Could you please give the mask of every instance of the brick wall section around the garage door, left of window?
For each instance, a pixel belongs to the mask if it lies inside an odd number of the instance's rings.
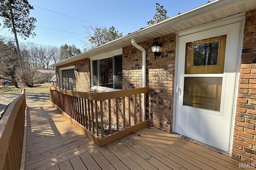
[[[73,66],[78,69],[76,74],[76,91],[90,92],[90,59],[82,59],[72,63],[57,66],[57,86],[60,87],[59,69],[63,67]]]

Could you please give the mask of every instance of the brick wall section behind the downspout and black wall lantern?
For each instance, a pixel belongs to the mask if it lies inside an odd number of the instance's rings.
[[[150,45],[162,43],[161,56],[154,57]],[[138,43],[146,49],[147,118],[156,128],[172,131],[176,35]],[[142,87],[142,52],[133,46],[123,49],[123,89]]]

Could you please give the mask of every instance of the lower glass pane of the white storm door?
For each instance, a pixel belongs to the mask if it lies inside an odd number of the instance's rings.
[[[220,111],[222,77],[185,77],[184,106]]]

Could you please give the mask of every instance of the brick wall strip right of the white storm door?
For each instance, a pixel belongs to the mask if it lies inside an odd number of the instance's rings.
[[[232,156],[256,164],[256,10],[246,12]]]

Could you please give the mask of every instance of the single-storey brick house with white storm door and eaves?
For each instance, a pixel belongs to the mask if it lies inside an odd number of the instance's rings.
[[[255,0],[214,0],[53,66],[64,89],[149,87],[154,127],[256,163]]]

